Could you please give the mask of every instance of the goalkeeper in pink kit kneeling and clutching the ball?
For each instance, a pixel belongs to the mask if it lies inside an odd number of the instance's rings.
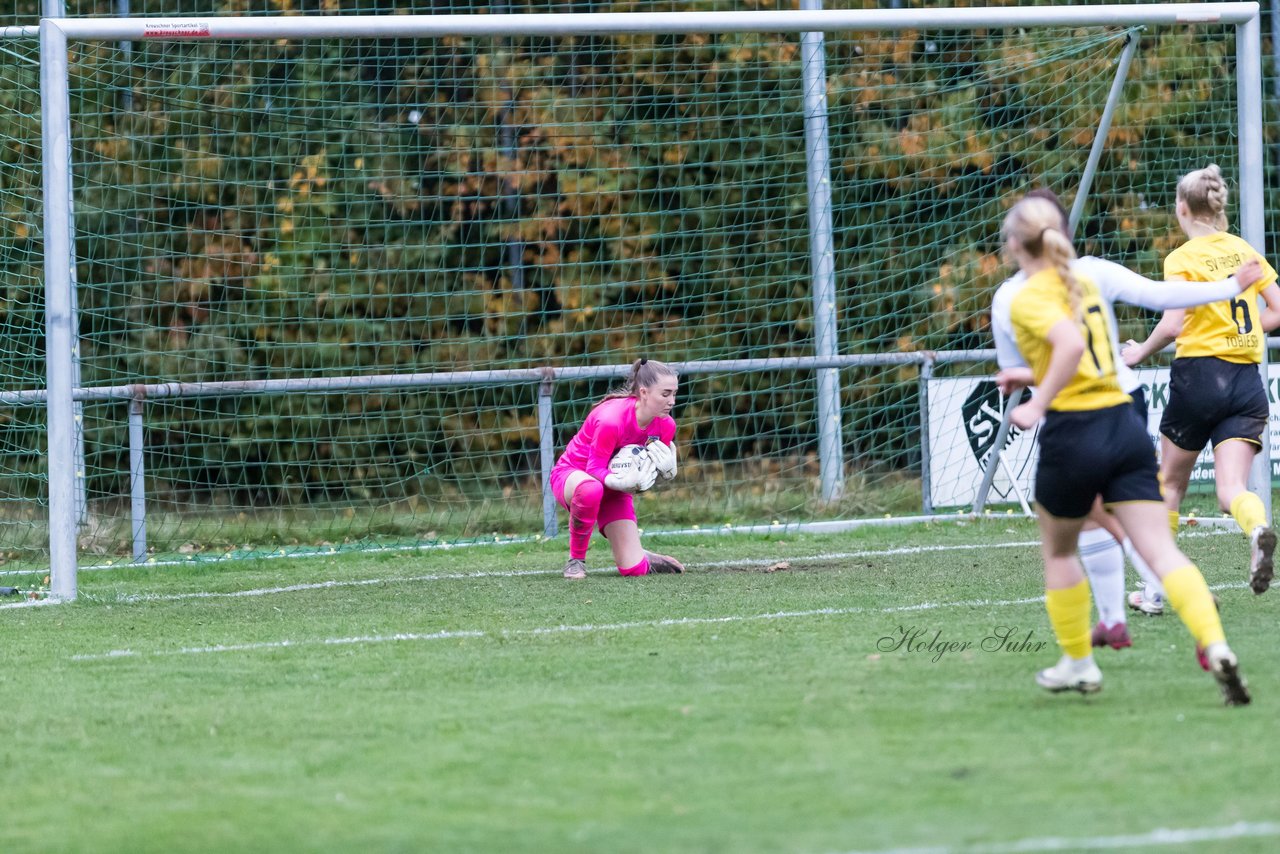
[[[673,557],[646,552],[640,545],[631,494],[652,487],[658,478],[676,476],[676,406],[678,376],[673,369],[640,359],[622,388],[611,392],[586,416],[552,469],[556,501],[568,511],[568,562],[566,579],[586,577],[586,549],[595,528],[609,540],[622,575],[684,572]],[[639,476],[612,474],[609,460],[628,444],[645,446]]]

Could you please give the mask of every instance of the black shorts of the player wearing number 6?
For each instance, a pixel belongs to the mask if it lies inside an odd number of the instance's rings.
[[[1169,371],[1169,406],[1160,433],[1184,451],[1201,451],[1228,439],[1261,447],[1271,417],[1262,374],[1254,364],[1240,365],[1213,356],[1175,359]]]

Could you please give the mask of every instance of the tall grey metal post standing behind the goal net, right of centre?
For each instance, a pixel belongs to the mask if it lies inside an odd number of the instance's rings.
[[[800,9],[819,10],[822,0],[800,0]],[[814,355],[835,356],[836,256],[831,224],[831,147],[827,123],[826,37],[800,33],[800,65],[804,85],[804,141],[809,188],[809,264],[813,278]],[[845,447],[841,437],[840,370],[819,367],[818,460],[822,498],[835,502],[845,494]]]

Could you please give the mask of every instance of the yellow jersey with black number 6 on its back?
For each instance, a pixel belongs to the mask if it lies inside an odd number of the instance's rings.
[[[1175,356],[1217,356],[1240,365],[1262,361],[1266,333],[1258,319],[1258,293],[1276,271],[1243,238],[1226,232],[1193,237],[1165,259],[1166,279],[1216,282],[1249,259],[1262,261],[1262,279],[1233,300],[1188,309]]]

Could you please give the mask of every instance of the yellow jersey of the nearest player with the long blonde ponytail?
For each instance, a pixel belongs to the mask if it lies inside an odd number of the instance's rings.
[[[1084,355],[1075,376],[1066,384],[1048,408],[1059,412],[1103,410],[1130,402],[1116,379],[1119,355],[1111,346],[1111,323],[1102,305],[1097,284],[1088,277],[1075,274],[1080,283],[1080,320],[1076,325],[1084,335]],[[1057,270],[1041,270],[1021,284],[1009,303],[1009,319],[1014,328],[1018,350],[1032,369],[1039,385],[1048,371],[1053,348],[1048,332],[1062,320],[1071,320],[1071,307],[1066,301],[1066,284]]]

